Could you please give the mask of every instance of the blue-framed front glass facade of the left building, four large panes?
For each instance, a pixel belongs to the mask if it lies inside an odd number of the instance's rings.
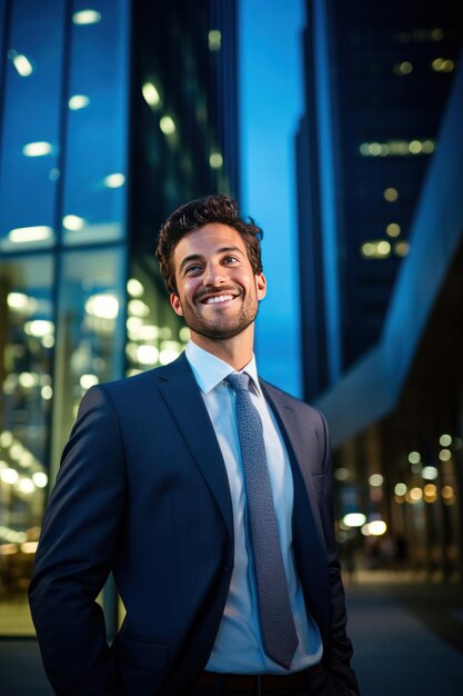
[[[3,2],[0,120],[0,633],[27,604],[78,404],[123,375],[127,0]]]

